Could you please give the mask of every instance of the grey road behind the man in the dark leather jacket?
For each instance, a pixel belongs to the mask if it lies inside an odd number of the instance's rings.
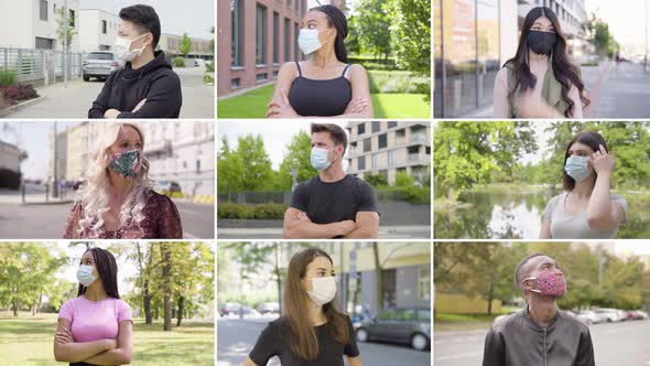
[[[650,321],[597,324],[589,327],[596,365],[650,365]],[[476,366],[483,359],[487,330],[434,333],[436,366]],[[522,352],[527,352],[522,349]]]

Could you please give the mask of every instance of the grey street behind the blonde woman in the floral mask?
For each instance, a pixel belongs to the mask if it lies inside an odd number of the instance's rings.
[[[58,239],[62,237],[65,218],[72,201],[57,203],[51,198],[45,203],[45,191],[41,187],[29,186],[25,201],[20,204],[19,192],[0,191],[0,237],[11,239]],[[174,201],[181,220],[183,235],[186,239],[213,239],[214,205],[195,204],[189,201]]]

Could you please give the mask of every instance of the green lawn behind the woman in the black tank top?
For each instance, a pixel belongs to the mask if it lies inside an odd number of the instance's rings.
[[[273,85],[217,101],[218,118],[264,118]],[[430,118],[422,94],[372,94],[375,118]]]

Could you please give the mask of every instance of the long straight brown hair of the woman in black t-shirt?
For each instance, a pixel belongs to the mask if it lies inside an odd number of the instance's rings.
[[[307,266],[317,257],[332,258],[324,250],[308,248],[296,252],[291,257],[286,268],[284,281],[284,301],[282,302],[282,325],[289,330],[289,344],[291,351],[301,358],[314,360],[318,356],[318,338],[314,326],[310,323],[310,314],[305,303],[310,301],[302,287],[301,280],[305,278]],[[340,344],[347,344],[349,330],[345,315],[336,308],[337,301],[323,305],[323,312],[327,317],[326,330],[332,337]]]

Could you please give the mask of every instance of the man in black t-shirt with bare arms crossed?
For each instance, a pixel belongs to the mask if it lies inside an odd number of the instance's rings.
[[[312,123],[311,162],[319,173],[293,191],[291,207],[284,213],[284,238],[377,237],[375,191],[343,170],[346,147],[347,137],[338,125]]]

